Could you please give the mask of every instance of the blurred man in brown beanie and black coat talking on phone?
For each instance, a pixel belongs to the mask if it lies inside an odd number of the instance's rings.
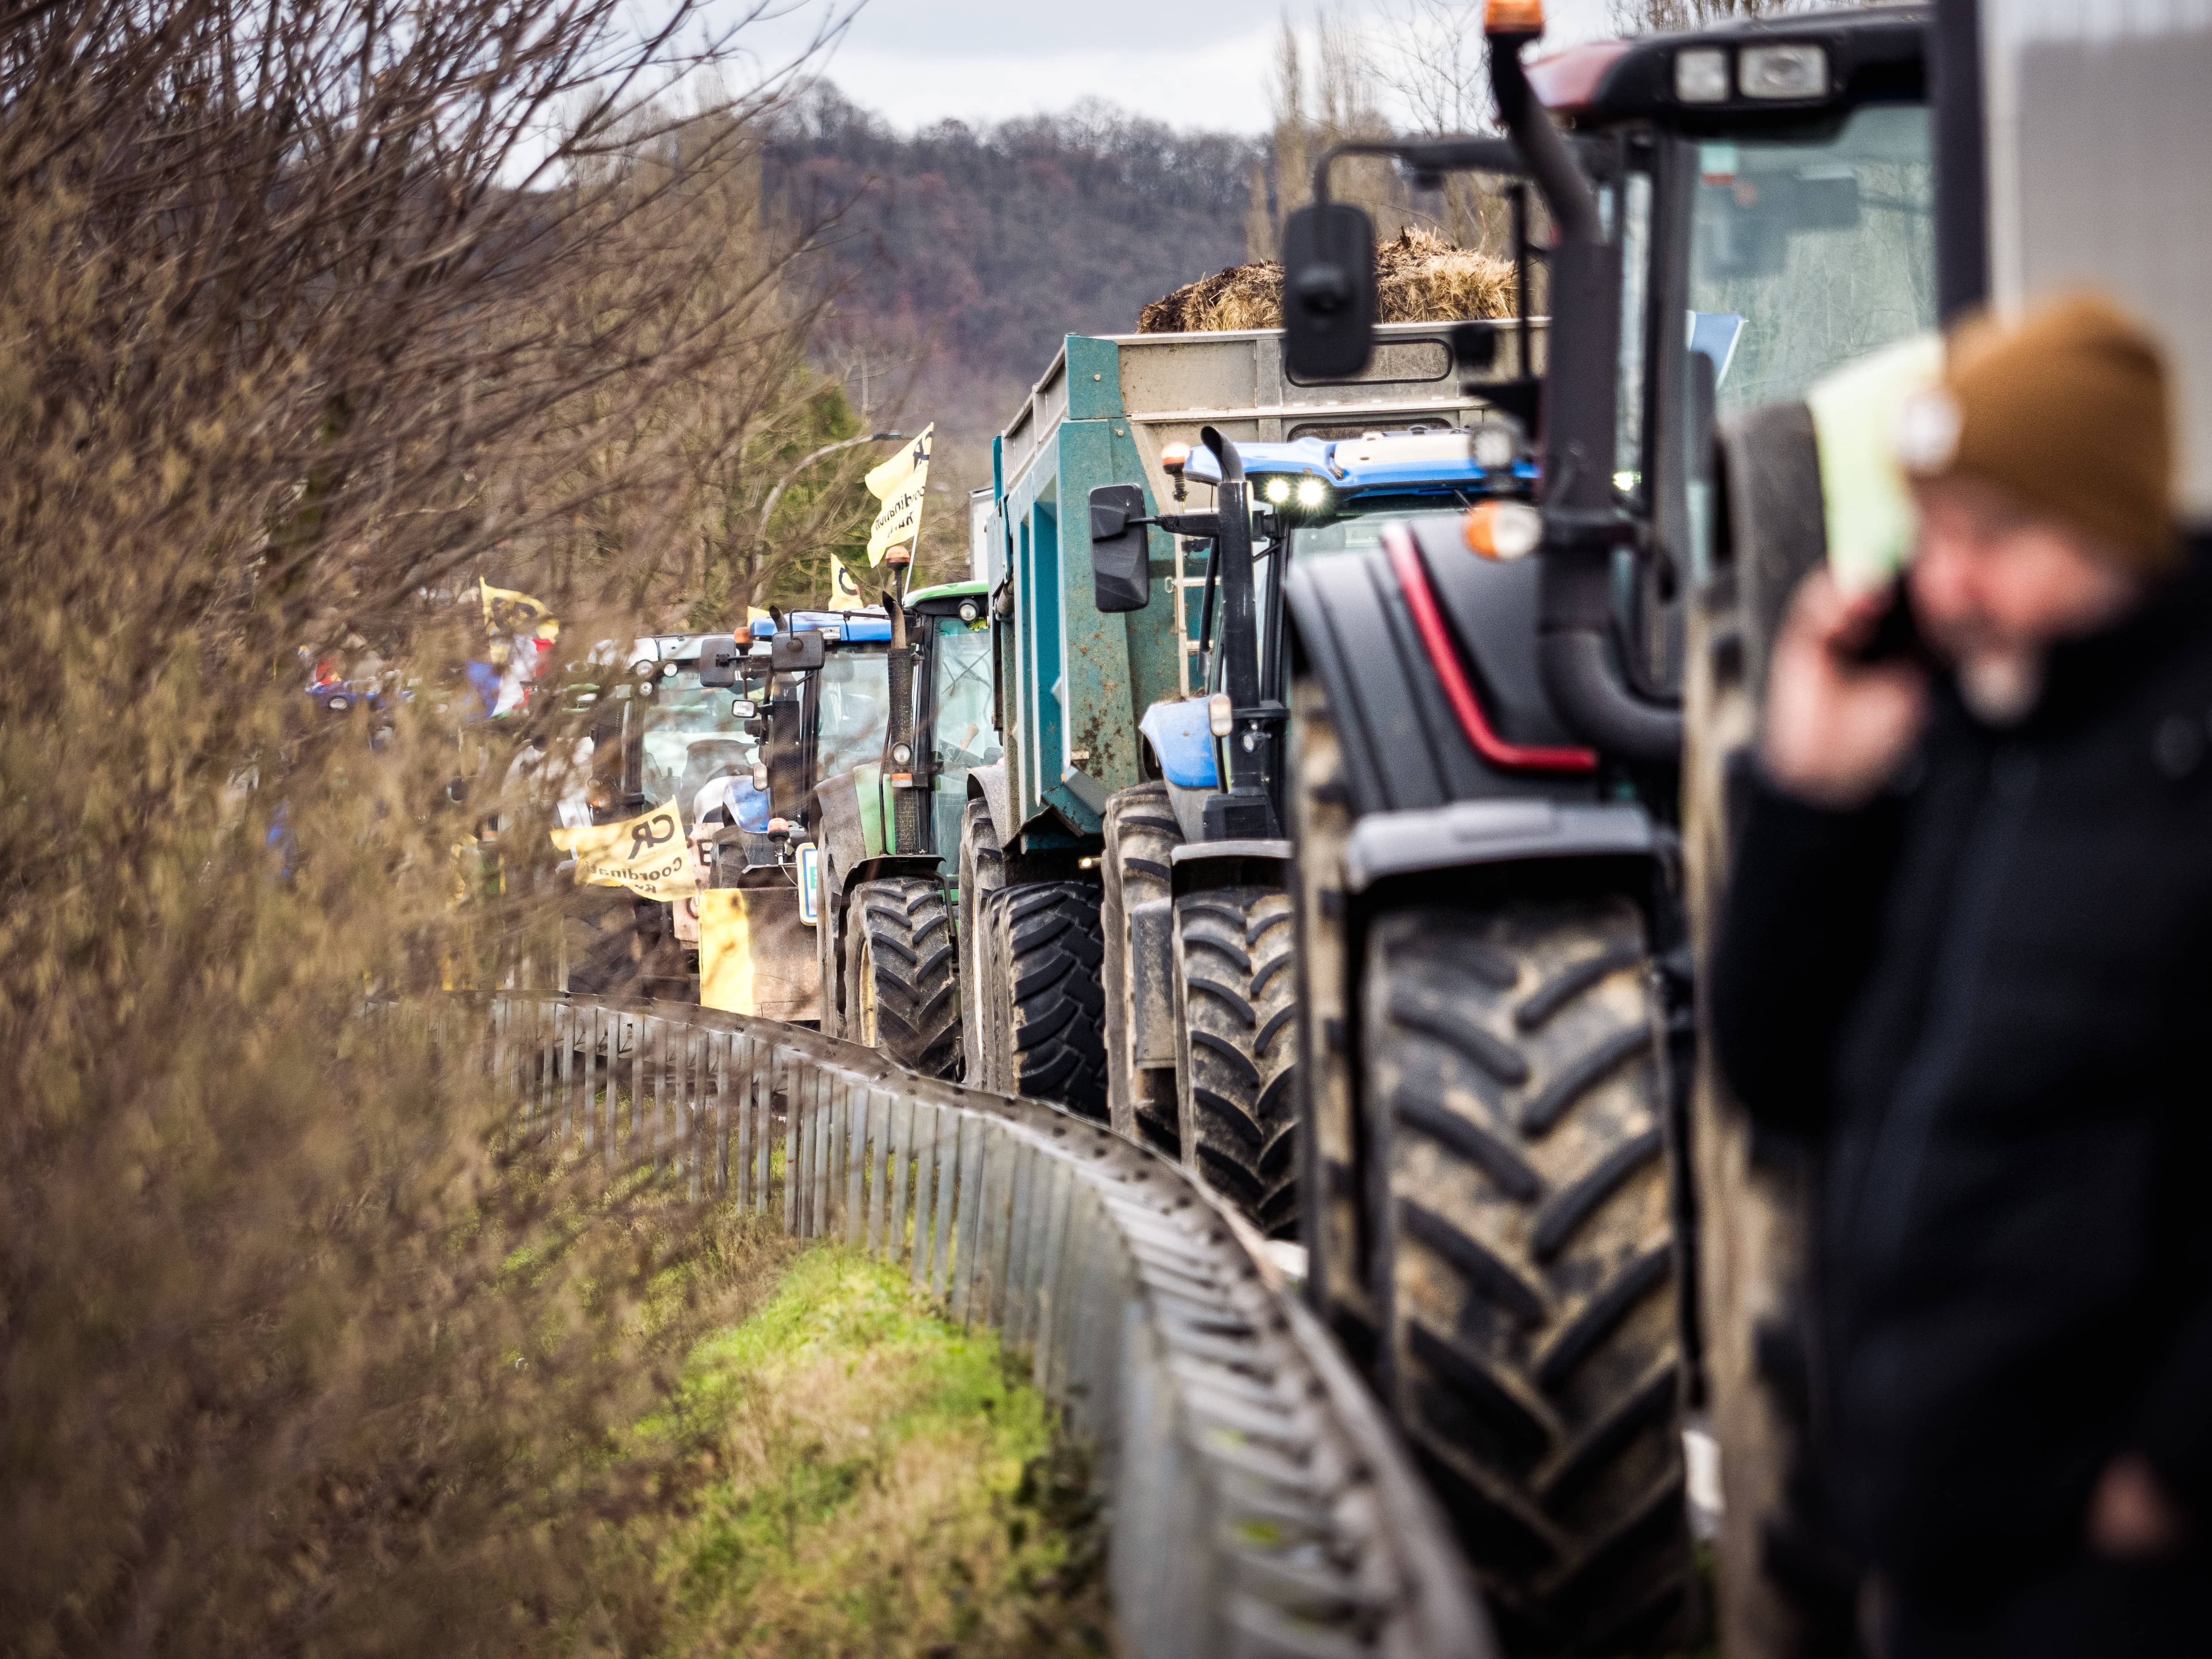
[[[1776,644],[1719,1060],[1820,1155],[1818,1436],[1891,1659],[2205,1655],[2212,571],[2157,345],[1953,338],[1900,431],[1918,644]]]

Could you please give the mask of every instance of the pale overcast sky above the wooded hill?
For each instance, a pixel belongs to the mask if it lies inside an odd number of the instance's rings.
[[[741,0],[719,0],[721,7]],[[827,0],[745,33],[768,58],[787,55],[823,20]],[[1340,13],[1387,27],[1407,0],[1345,0]],[[1608,29],[1608,0],[1551,0],[1546,40]],[[998,122],[1104,97],[1181,128],[1259,133],[1283,18],[1310,27],[1314,7],[1281,0],[867,0],[823,73],[900,131],[947,117]]]

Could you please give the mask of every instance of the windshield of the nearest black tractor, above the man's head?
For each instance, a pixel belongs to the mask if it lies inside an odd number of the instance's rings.
[[[1922,104],[1820,137],[1697,146],[1690,349],[1719,407],[1801,398],[1829,369],[1936,327],[1936,166]]]

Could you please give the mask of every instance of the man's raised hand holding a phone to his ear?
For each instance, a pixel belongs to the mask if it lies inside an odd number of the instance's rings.
[[[1927,675],[1916,664],[1849,657],[1887,608],[1887,593],[1845,595],[1814,571],[1774,641],[1761,759],[1776,785],[1816,807],[1871,801],[1927,721]]]

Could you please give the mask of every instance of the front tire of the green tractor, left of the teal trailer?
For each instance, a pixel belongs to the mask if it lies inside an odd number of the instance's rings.
[[[845,898],[845,1031],[922,1077],[960,1066],[960,967],[945,889],[860,883]]]

